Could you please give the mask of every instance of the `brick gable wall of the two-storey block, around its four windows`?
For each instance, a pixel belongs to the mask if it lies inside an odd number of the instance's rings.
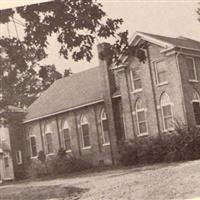
[[[135,139],[138,135],[135,106],[136,101],[142,99],[146,108],[148,136],[159,137],[163,132],[163,121],[160,108],[160,97],[166,92],[172,102],[173,117],[175,121],[185,122],[184,101],[182,98],[182,86],[179,68],[175,54],[166,56],[160,53],[161,47],[151,44],[149,46],[149,58],[145,63],[140,63],[136,58],[129,58],[128,67],[118,72],[120,78],[120,91],[122,95],[122,107],[125,115],[127,139]],[[148,60],[149,59],[149,60]],[[167,83],[158,85],[154,62],[164,60],[167,66]],[[137,70],[142,80],[142,91],[131,91],[130,70]],[[160,131],[159,131],[160,130]]]

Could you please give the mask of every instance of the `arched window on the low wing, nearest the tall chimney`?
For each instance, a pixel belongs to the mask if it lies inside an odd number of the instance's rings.
[[[108,119],[105,109],[101,111],[101,129],[102,129],[102,144],[110,144],[109,132],[108,132]]]

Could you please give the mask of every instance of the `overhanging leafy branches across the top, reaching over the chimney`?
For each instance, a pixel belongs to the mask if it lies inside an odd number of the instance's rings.
[[[129,46],[128,31],[118,31],[123,20],[107,17],[97,1],[54,0],[19,7],[17,13],[26,21],[25,43],[29,46],[45,49],[48,37],[57,34],[61,55],[66,59],[70,55],[75,61],[90,61],[95,39],[113,37],[115,42],[111,54],[115,62],[119,55],[129,53],[135,53],[140,60],[144,60],[143,51],[135,52],[138,48]],[[9,20],[10,17],[7,17]]]

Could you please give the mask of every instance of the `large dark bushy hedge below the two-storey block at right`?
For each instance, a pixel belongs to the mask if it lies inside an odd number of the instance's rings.
[[[157,162],[176,162],[200,158],[200,129],[176,127],[166,134],[162,141],[146,137],[137,143],[129,141],[120,148],[122,165]]]

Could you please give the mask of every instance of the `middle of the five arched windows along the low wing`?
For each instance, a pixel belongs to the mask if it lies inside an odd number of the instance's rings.
[[[62,124],[62,136],[65,150],[71,151],[71,136],[67,120],[64,120]]]

